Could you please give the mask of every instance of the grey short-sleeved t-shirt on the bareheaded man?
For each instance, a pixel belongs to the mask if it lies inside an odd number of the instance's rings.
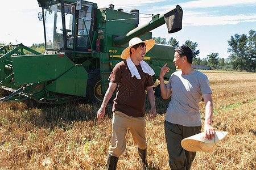
[[[201,126],[199,102],[203,94],[212,93],[207,75],[200,71],[182,75],[181,71],[176,71],[166,86],[172,91],[172,99],[165,120],[182,126]]]

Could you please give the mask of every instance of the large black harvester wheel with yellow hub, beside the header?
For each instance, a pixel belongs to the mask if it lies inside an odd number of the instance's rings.
[[[97,103],[98,101],[102,101],[103,98],[104,95],[101,93],[100,70],[95,69],[88,74],[86,101],[89,103]]]

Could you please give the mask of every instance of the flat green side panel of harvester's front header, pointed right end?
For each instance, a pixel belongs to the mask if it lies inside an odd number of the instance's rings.
[[[12,59],[16,85],[56,79],[75,66],[64,54],[14,56]]]

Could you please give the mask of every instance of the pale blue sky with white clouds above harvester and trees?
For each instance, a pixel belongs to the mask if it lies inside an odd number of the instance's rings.
[[[92,1],[98,7],[108,7],[112,3],[115,9],[130,11],[137,8],[141,13],[162,14],[176,5],[183,8],[183,28],[169,34],[166,25],[152,31],[152,36],[165,37],[167,41],[174,37],[182,45],[185,40],[197,42],[199,57],[205,58],[210,53],[219,53],[220,58],[227,58],[228,40],[235,33],[248,35],[250,29],[256,30],[256,0],[112,0]],[[13,0],[1,2],[0,42],[33,43],[44,42],[43,22],[38,20],[41,8],[36,0]],[[140,15],[141,17],[145,15]],[[147,15],[146,15],[147,16]],[[141,19],[140,23],[150,20]]]

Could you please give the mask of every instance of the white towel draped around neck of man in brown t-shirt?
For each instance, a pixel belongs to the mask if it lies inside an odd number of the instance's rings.
[[[137,67],[134,65],[133,61],[131,61],[131,56],[127,57],[126,62],[131,72],[131,77],[135,75],[137,79],[141,79],[141,75],[139,75],[139,71],[137,70]],[[144,73],[147,73],[148,75],[151,75],[151,76],[155,74],[154,70],[151,69],[151,67],[147,64],[147,62],[140,61],[139,63],[141,64],[141,68]]]

